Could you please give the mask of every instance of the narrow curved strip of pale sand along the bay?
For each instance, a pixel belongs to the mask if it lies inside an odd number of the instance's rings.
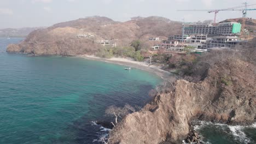
[[[90,60],[94,60],[94,61],[126,65],[127,67],[132,67],[132,68],[148,71],[149,73],[158,75],[162,79],[167,79],[168,77],[170,77],[172,75],[170,72],[162,70],[155,65],[149,65],[148,63],[145,63],[145,62],[136,62],[136,61],[132,61],[132,60],[126,59],[126,58],[117,58],[117,57],[101,58],[101,57],[96,57],[93,55],[81,55],[78,57],[82,57],[82,58],[86,58],[86,59],[90,59]]]

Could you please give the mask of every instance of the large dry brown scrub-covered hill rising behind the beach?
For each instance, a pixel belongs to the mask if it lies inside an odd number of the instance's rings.
[[[38,55],[74,56],[94,53],[101,49],[97,41],[112,39],[117,46],[127,46],[132,40],[148,43],[148,38],[167,38],[181,33],[179,22],[164,17],[141,17],[126,22],[113,21],[107,17],[86,17],[74,21],[57,23],[45,29],[31,32],[18,45],[8,46],[8,52],[26,52]],[[78,34],[93,35],[76,38]]]

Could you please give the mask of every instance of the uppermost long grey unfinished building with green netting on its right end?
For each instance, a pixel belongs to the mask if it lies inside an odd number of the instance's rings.
[[[217,26],[210,24],[189,25],[184,27],[184,34],[216,34],[216,35],[235,35],[241,32],[241,23],[225,22]]]

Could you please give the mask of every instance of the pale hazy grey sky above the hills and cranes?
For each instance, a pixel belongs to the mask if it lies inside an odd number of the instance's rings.
[[[207,11],[182,9],[224,9],[242,6],[256,0],[0,0],[0,28],[51,26],[87,16],[106,16],[128,21],[135,16],[163,16],[173,21],[213,20]],[[256,8],[256,5],[250,8]],[[242,17],[241,11],[220,11],[217,21]],[[256,19],[256,10],[247,17]]]

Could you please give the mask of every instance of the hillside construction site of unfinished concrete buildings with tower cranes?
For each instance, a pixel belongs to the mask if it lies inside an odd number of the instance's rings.
[[[193,51],[207,50],[226,50],[233,49],[237,46],[244,45],[248,40],[255,37],[255,31],[246,29],[246,23],[254,23],[253,19],[247,17],[247,12],[256,12],[256,9],[249,8],[256,4],[227,9],[210,9],[210,10],[178,10],[178,11],[201,11],[214,13],[213,23],[182,23],[182,33],[178,35],[170,35],[167,40],[163,40],[159,44],[153,46],[153,50],[164,49],[167,51],[181,52],[185,48],[193,48]],[[241,11],[241,22],[216,22],[217,14],[220,11]]]

